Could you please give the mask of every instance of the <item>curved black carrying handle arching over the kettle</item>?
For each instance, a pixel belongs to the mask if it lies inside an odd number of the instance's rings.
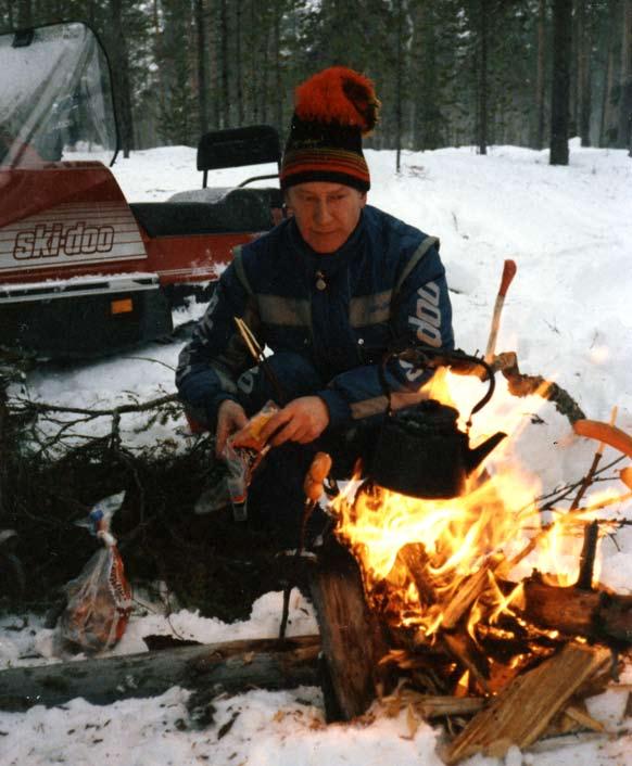
[[[467,375],[477,374],[475,372],[475,368],[482,367],[486,373],[489,387],[484,396],[477,401],[469,413],[469,418],[467,420],[467,425],[469,426],[471,424],[472,416],[481,410],[494,395],[496,381],[494,378],[494,371],[490,365],[482,357],[471,356],[460,349],[443,350],[441,348],[430,348],[429,346],[410,344],[408,339],[406,339],[406,343],[408,345],[403,348],[400,345],[391,350],[388,350],[382,357],[381,363],[378,368],[380,385],[384,396],[388,399],[387,416],[390,417],[393,414],[391,400],[392,391],[387,381],[387,365],[391,361],[391,359],[407,361],[417,368],[425,367],[428,370],[437,370],[440,367],[454,368],[456,371],[460,372],[460,374]],[[480,375],[477,376],[480,378]]]

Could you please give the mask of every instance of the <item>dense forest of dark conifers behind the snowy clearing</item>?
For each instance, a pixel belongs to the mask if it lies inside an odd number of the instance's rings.
[[[295,85],[333,64],[375,80],[372,149],[632,152],[632,0],[0,0],[0,28],[59,21],[100,35],[126,154],[257,123],[283,138]]]

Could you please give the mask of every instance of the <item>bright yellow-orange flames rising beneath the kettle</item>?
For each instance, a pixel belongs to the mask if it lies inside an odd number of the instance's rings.
[[[455,406],[463,430],[463,420],[480,398],[480,385],[476,379],[440,371],[424,393]],[[470,476],[463,496],[416,499],[356,477],[334,501],[336,534],[361,564],[369,604],[388,615],[391,625],[412,630],[417,642],[432,642],[442,627],[451,629],[462,617],[476,641],[481,624],[492,629],[501,615],[516,614],[522,588],[507,592],[506,583],[534,567],[554,573],[549,577],[557,585],[577,578],[582,546],[577,522],[585,522],[585,513],[571,518],[554,512],[553,523],[545,518],[544,526],[536,505],[540,482],[513,455],[515,438],[530,420],[526,410],[542,401],[516,399],[500,382],[492,403],[475,416],[470,438],[478,442],[498,430],[509,438]],[[530,546],[533,537],[538,545]],[[533,550],[524,556],[529,546]],[[520,655],[513,664],[522,662]]]

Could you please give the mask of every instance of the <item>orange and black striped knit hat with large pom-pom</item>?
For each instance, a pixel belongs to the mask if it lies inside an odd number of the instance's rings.
[[[309,181],[370,188],[362,137],[378,122],[374,84],[344,66],[331,66],[300,85],[281,164],[281,189]]]

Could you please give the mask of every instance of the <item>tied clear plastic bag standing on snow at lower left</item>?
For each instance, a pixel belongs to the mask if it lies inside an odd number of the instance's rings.
[[[102,548],[84,566],[78,577],[67,583],[67,604],[58,624],[61,642],[86,652],[111,649],[121,640],[131,612],[131,588],[125,577],[123,559],[110,522],[121,508],[125,493],[112,495],[90,511],[87,526]]]

